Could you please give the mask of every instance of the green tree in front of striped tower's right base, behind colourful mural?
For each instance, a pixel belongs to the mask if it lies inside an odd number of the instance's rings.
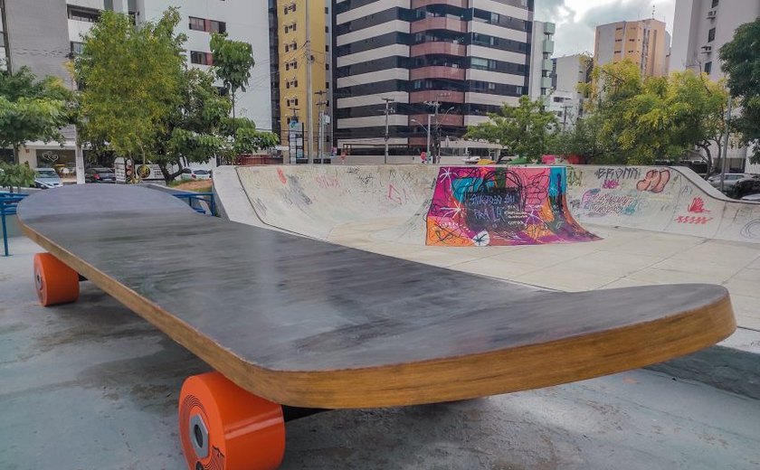
[[[506,155],[520,155],[538,160],[549,144],[552,128],[557,125],[556,115],[544,108],[541,99],[520,97],[517,107],[502,105],[499,113],[489,113],[489,122],[467,129],[465,138],[485,140],[499,144],[502,151],[499,162]]]

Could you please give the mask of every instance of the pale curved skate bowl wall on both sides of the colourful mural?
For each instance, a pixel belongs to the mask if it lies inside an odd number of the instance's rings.
[[[356,227],[371,232],[372,240],[435,245],[428,240],[430,211],[442,168],[446,167],[220,167],[214,171],[214,191],[231,220],[320,240],[328,240],[338,227]],[[688,168],[576,165],[566,167],[566,172],[567,221],[579,227],[626,227],[760,243],[760,203],[729,199]]]

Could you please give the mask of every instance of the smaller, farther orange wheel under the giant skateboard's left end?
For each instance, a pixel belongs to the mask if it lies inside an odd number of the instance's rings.
[[[79,274],[50,253],[37,253],[34,287],[43,306],[73,302],[79,297]]]

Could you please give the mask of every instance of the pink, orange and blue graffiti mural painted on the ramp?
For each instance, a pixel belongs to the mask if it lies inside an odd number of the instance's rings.
[[[442,166],[427,245],[497,246],[600,240],[572,217],[565,167]]]

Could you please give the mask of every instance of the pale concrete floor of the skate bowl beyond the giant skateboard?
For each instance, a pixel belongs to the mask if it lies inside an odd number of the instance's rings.
[[[743,328],[760,331],[760,244],[587,225],[603,240],[518,247],[428,247],[394,240],[401,219],[340,225],[328,240],[397,258],[565,291],[705,282],[727,287]]]

